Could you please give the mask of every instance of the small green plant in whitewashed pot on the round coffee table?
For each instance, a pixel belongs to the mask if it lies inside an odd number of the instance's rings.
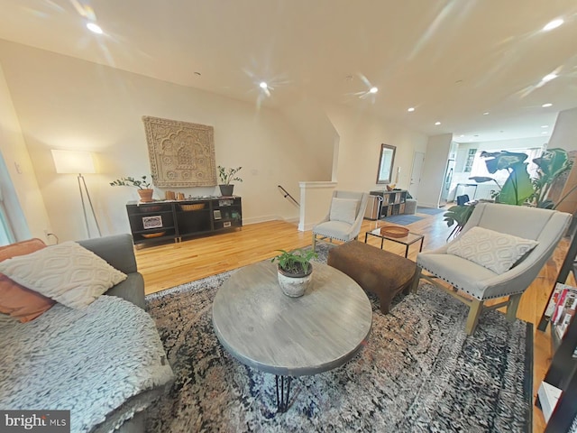
[[[291,297],[302,296],[312,281],[313,264],[318,254],[313,250],[298,249],[292,252],[277,250],[279,255],[273,257],[271,262],[278,262],[279,285],[282,292]]]

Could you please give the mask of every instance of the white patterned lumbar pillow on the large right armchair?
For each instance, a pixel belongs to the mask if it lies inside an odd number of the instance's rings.
[[[504,273],[529,253],[537,241],[523,239],[483,227],[472,227],[447,248],[447,253],[481,264],[495,273]]]

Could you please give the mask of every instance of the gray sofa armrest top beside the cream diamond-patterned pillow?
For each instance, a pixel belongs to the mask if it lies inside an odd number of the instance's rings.
[[[108,264],[126,274],[136,272],[136,257],[132,235],[111,235],[78,241],[78,244],[103,258]]]

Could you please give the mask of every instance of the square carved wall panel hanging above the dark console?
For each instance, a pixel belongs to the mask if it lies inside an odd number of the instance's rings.
[[[154,185],[214,187],[214,128],[159,117],[142,116]]]

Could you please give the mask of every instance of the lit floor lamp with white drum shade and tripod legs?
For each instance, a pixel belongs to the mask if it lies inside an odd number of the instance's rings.
[[[92,200],[90,199],[90,194],[88,194],[87,182],[84,180],[84,176],[82,176],[82,173],[85,174],[96,173],[92,153],[82,151],[57,151],[57,150],[52,150],[51,152],[57,173],[78,174],[78,190],[80,191],[80,200],[82,201],[82,211],[84,212],[84,222],[87,225],[88,237],[91,236],[90,236],[90,226],[88,225],[87,204],[84,198],[85,194],[88,200],[88,205],[90,205],[90,211],[92,212],[92,217],[94,218],[94,222],[96,224],[96,229],[98,230],[98,235],[102,236],[102,234],[100,233],[100,226],[98,226],[98,220],[96,219],[96,214],[94,212],[94,207],[92,206]]]

